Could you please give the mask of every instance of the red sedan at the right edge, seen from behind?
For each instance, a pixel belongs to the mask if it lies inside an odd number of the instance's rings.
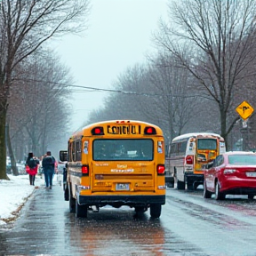
[[[217,156],[204,170],[204,198],[225,199],[226,195],[256,196],[256,154],[233,151]]]

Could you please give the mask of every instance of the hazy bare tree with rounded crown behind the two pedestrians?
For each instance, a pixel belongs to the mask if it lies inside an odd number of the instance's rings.
[[[10,132],[15,144],[20,139],[20,130],[26,136],[23,156],[28,150],[36,156],[43,155],[47,145],[58,144],[68,129],[69,109],[65,102],[71,92],[68,85],[62,84],[72,84],[72,77],[54,52],[42,53],[34,52],[23,61],[21,74],[16,74],[12,84],[8,119],[12,122]]]

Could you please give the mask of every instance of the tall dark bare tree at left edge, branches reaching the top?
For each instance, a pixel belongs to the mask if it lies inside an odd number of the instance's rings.
[[[12,72],[52,36],[85,28],[88,0],[2,0],[0,15],[0,179],[5,173],[5,124]]]

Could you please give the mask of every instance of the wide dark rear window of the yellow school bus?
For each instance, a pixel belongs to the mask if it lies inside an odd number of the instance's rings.
[[[153,140],[93,140],[92,157],[94,161],[152,161]]]

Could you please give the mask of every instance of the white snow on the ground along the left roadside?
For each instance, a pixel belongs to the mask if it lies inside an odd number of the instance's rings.
[[[57,182],[59,175],[54,175],[53,184]],[[8,177],[10,180],[0,180],[0,226],[15,220],[34,189],[44,187],[44,179],[37,175],[35,186],[29,184],[28,174],[8,174]]]

